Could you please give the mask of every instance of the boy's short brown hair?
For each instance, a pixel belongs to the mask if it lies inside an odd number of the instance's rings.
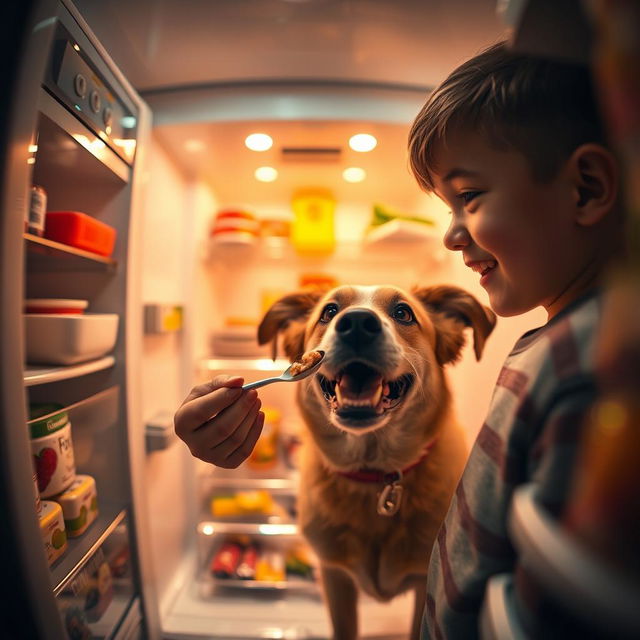
[[[591,74],[581,65],[510,51],[500,42],[460,65],[429,96],[409,133],[409,163],[425,191],[454,130],[515,150],[544,182],[586,142],[606,145]]]

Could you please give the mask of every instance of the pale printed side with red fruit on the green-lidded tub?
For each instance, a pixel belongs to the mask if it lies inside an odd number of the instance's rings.
[[[76,474],[71,423],[54,433],[31,440],[31,453],[42,498],[64,491]]]

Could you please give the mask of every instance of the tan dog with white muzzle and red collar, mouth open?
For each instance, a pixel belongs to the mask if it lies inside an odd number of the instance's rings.
[[[415,590],[419,637],[431,547],[467,458],[445,366],[471,327],[480,359],[495,314],[455,286],[340,286],[284,296],[260,344],[293,362],[325,352],[297,385],[307,433],[298,520],[319,559],[335,639],[358,636],[358,592]]]

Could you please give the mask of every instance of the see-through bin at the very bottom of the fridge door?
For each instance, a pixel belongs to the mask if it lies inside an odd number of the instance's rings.
[[[112,638],[134,602],[126,511],[56,589],[69,640]]]

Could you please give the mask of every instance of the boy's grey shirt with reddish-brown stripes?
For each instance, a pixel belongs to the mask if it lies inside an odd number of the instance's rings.
[[[545,506],[562,511],[596,398],[600,310],[596,294],[585,296],[522,336],[507,356],[431,553],[423,640],[478,636],[488,578],[516,570],[507,515],[519,484],[537,483]]]

